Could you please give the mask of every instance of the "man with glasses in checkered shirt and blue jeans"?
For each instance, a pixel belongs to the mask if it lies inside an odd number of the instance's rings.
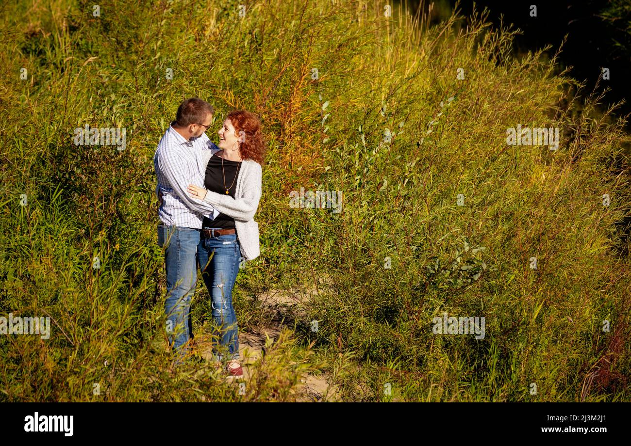
[[[215,219],[219,211],[187,193],[191,183],[204,187],[206,164],[212,149],[218,150],[204,132],[213,120],[213,107],[198,98],[183,101],[175,121],[162,136],[155,155],[158,185],[158,245],[165,248],[167,271],[167,333],[177,362],[189,350],[192,327],[191,298],[197,282],[196,253],[204,216]]]

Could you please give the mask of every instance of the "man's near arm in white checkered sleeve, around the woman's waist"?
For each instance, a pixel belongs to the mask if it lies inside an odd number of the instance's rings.
[[[213,205],[204,200],[192,198],[186,192],[190,183],[204,187],[204,181],[197,166],[191,166],[186,160],[177,157],[174,151],[162,151],[158,157],[158,168],[187,208],[213,220],[219,215],[220,212]]]

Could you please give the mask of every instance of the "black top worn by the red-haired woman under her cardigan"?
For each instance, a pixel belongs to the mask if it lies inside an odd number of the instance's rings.
[[[221,171],[221,162],[223,161],[223,172]],[[206,178],[204,178],[204,187],[212,192],[220,193],[221,195],[230,195],[235,197],[235,190],[237,189],[237,175],[241,168],[241,161],[230,161],[229,159],[223,159],[220,156],[213,154],[208,160],[206,165]],[[223,173],[225,172],[225,187]],[[232,187],[230,187],[232,185]],[[226,193],[228,188],[228,193]],[[202,222],[203,227],[220,227],[221,229],[235,229],[235,219],[228,217],[228,215],[220,213],[215,220],[211,220],[208,217],[204,217]]]

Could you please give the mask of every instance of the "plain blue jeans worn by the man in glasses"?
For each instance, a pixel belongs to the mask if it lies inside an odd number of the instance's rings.
[[[158,245],[165,248],[167,270],[167,316],[169,344],[181,359],[189,350],[191,338],[191,299],[197,283],[195,264],[200,231],[192,227],[158,224]]]

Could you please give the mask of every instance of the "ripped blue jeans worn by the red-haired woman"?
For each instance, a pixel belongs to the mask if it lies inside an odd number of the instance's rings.
[[[228,360],[239,359],[239,326],[232,307],[232,287],[242,260],[237,234],[202,237],[197,256],[199,270],[212,299],[213,338],[219,339],[219,345],[213,345],[213,355],[216,360],[222,360],[226,355]]]

